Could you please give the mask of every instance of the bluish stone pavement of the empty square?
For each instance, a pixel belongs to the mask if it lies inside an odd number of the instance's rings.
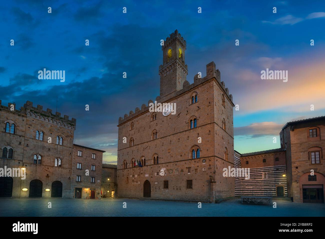
[[[52,208],[48,208],[48,202]],[[126,208],[123,208],[126,202]],[[1,217],[136,217],[136,216],[268,216],[268,217],[324,217],[325,204],[292,203],[278,200],[277,208],[268,205],[241,204],[233,199],[220,204],[135,200],[110,198],[102,200],[64,198],[0,198]]]

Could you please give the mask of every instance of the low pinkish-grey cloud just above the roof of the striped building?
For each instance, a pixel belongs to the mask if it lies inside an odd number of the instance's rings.
[[[247,135],[250,138],[279,135],[282,127],[283,124],[274,122],[253,123],[248,126],[234,127],[234,135]]]

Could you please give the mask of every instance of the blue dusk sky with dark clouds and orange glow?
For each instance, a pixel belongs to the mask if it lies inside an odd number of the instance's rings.
[[[13,0],[0,9],[0,100],[55,112],[58,97],[58,112],[77,119],[75,143],[116,164],[118,118],[159,95],[160,40],[177,29],[188,82],[214,61],[239,105],[234,149],[279,148],[286,122],[325,115],[324,25],[324,1]],[[38,79],[44,68],[65,81]],[[288,81],[261,79],[266,68]]]

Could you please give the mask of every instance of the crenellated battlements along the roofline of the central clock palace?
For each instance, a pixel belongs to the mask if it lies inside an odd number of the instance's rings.
[[[168,37],[167,37],[168,39]],[[165,97],[160,98],[160,96],[156,97],[156,101],[158,103],[163,103],[168,101],[169,99],[174,98],[175,96],[181,95],[186,91],[189,91],[191,89],[193,89],[194,87],[202,84],[205,81],[208,81],[212,78],[215,78],[216,81],[218,82],[218,84],[220,85],[220,87],[223,89],[225,96],[230,100],[230,102],[232,103],[232,95],[229,94],[229,90],[228,88],[225,87],[225,82],[221,81],[221,76],[220,76],[220,71],[218,69],[215,69],[215,63],[212,61],[209,64],[206,65],[206,76],[203,78],[199,78],[199,75],[196,74],[194,76],[194,83],[193,84],[189,84],[188,81],[185,81],[183,83],[183,89],[179,90],[179,91],[175,91]],[[129,114],[124,114],[124,118],[120,117],[119,118],[119,125],[148,111],[149,110],[149,103],[153,103],[152,100],[148,101],[148,105],[146,104],[142,104],[141,109],[139,109],[138,107],[136,107],[135,112],[130,111]],[[233,104],[233,103],[232,103]],[[234,106],[234,104],[233,104]]]

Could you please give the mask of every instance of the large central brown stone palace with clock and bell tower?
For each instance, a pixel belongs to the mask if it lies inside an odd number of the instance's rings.
[[[149,100],[119,118],[117,196],[206,202],[232,197],[234,178],[222,176],[223,168],[234,166],[232,96],[214,62],[205,77],[197,74],[188,83],[186,41],[177,30],[162,51],[156,101],[175,103],[176,112],[151,112]]]

